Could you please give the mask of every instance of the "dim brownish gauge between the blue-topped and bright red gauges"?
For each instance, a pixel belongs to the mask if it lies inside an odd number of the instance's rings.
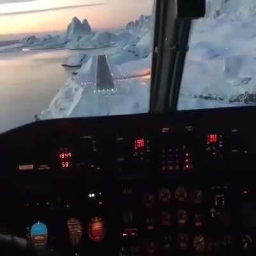
[[[67,222],[68,233],[70,238],[70,243],[72,246],[77,246],[83,236],[83,228],[79,220],[72,218]]]

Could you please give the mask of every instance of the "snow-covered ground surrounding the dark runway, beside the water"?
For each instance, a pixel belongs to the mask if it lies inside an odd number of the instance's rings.
[[[63,118],[68,116],[102,116],[145,113],[148,111],[150,94],[150,76],[136,77],[150,70],[151,59],[127,61],[116,65],[107,58],[109,70],[117,77],[115,88],[97,89],[97,56],[92,56],[77,70],[77,75],[68,79],[52,100],[49,108],[44,109],[41,119]],[[113,70],[118,70],[113,73]]]

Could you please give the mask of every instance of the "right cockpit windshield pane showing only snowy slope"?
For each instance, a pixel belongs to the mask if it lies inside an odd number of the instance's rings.
[[[179,110],[255,106],[256,1],[207,0],[193,21]]]

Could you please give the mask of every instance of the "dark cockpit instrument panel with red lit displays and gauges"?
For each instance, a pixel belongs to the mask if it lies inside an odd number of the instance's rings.
[[[254,255],[251,115],[56,120],[3,134],[0,233],[7,223],[31,250],[61,255]]]

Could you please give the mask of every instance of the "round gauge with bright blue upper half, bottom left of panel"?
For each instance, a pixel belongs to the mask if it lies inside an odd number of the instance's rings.
[[[47,226],[38,221],[30,230],[31,243],[35,246],[45,246],[48,241],[48,230]]]

